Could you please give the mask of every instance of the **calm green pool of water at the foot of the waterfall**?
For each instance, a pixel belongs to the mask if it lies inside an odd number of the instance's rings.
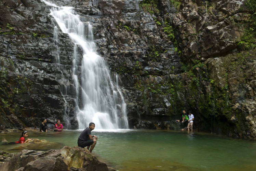
[[[80,131],[35,132],[28,138],[45,139],[55,145],[33,146],[47,151],[76,146]],[[21,132],[0,134],[9,142]],[[98,136],[93,154],[120,171],[256,170],[256,141],[233,139],[207,133],[169,130],[92,131]],[[21,144],[0,145],[0,150],[17,153]]]

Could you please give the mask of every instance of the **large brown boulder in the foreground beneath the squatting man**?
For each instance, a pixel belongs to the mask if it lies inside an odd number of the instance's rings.
[[[8,156],[0,164],[4,171],[114,171],[81,147],[65,146],[47,152],[23,150],[15,155],[4,156]]]

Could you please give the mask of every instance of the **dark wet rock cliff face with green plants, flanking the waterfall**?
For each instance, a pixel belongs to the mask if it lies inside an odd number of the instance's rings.
[[[199,131],[255,138],[256,53],[238,45],[252,20],[245,0],[50,2],[91,21],[98,53],[122,80],[131,128],[175,129],[170,120],[185,109]],[[58,67],[49,7],[0,5],[1,129],[34,127],[43,117],[76,129],[68,35],[58,35]]]

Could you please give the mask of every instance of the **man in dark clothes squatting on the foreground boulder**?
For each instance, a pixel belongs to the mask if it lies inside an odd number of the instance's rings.
[[[95,124],[94,123],[90,123],[89,124],[89,128],[85,128],[85,130],[83,130],[83,132],[80,134],[78,140],[77,140],[77,144],[79,147],[86,147],[89,150],[90,146],[90,152],[92,153],[93,148],[95,147],[98,137],[96,136],[92,136],[91,135],[91,131],[94,130],[95,128]],[[93,139],[94,137],[94,139]]]

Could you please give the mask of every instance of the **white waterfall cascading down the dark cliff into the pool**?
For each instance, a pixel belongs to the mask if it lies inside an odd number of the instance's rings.
[[[52,6],[51,15],[62,32],[69,34],[75,43],[72,77],[77,94],[79,129],[88,127],[90,122],[94,122],[97,129],[128,129],[126,104],[118,87],[118,76],[115,77],[116,83],[111,80],[105,60],[96,53],[91,23],[81,22],[80,16],[71,7],[59,7],[42,1]],[[78,46],[83,50],[81,71],[77,66]],[[81,72],[81,78],[78,72]]]

